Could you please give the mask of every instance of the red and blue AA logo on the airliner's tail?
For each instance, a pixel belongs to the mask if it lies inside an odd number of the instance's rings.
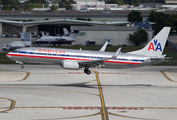
[[[148,48],[148,51],[150,51],[150,50],[153,50],[153,51],[158,51],[158,50],[160,50],[160,51],[162,51],[161,44],[158,43],[158,40],[157,40],[157,39],[156,39],[156,40],[154,39],[154,43],[153,43],[153,42],[150,43],[149,48]]]

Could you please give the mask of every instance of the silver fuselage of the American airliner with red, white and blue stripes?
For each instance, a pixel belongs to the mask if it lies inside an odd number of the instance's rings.
[[[100,52],[88,50],[72,50],[57,48],[22,48],[14,52],[9,52],[7,57],[19,63],[41,63],[41,64],[59,64],[62,65],[63,60],[77,61],[80,67],[84,66],[84,61],[97,61],[111,58],[113,52]],[[120,53],[116,59],[104,60],[104,67],[124,68],[139,67],[151,65],[161,61],[152,63],[150,57]],[[95,66],[94,64],[92,66]],[[90,65],[91,67],[91,65]]]

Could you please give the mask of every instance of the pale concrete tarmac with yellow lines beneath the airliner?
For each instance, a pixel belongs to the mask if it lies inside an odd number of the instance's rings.
[[[0,65],[1,120],[176,120],[177,67]]]

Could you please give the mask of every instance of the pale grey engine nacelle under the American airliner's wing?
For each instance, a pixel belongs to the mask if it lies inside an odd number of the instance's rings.
[[[79,69],[79,64],[78,64],[77,61],[64,60],[62,63],[63,63],[63,68],[64,69],[74,69],[74,70],[78,70]]]

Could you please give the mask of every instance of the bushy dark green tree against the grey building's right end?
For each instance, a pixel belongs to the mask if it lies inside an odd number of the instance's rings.
[[[140,29],[139,31],[134,32],[133,35],[129,34],[128,40],[133,42],[136,46],[139,46],[148,41],[148,34],[145,30]]]

